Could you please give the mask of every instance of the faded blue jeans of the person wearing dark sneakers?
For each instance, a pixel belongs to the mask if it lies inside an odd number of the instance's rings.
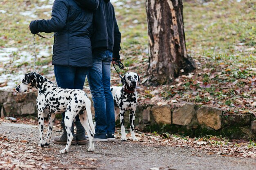
[[[88,69],[88,82],[94,102],[95,132],[98,135],[115,133],[114,100],[110,91],[112,52],[97,50],[92,53],[93,66]]]

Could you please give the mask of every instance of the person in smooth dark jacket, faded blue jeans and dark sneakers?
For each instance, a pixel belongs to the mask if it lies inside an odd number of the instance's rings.
[[[85,0],[77,1],[86,7]],[[95,110],[94,141],[111,141],[115,140],[115,111],[110,91],[110,64],[112,60],[120,60],[121,33],[110,0],[99,0],[93,15],[93,28],[93,66],[89,68],[87,78]]]

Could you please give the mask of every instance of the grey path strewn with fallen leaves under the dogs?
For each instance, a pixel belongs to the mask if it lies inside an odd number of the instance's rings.
[[[63,145],[39,148],[38,128],[33,125],[2,123],[0,135],[0,169],[255,170],[256,166],[255,158],[207,155],[203,149],[119,139],[95,142],[95,152],[87,152],[88,146],[71,146],[63,155],[58,152]]]

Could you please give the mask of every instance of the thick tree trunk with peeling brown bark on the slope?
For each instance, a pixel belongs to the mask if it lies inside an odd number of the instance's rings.
[[[146,11],[150,48],[147,83],[168,84],[195,69],[195,63],[186,53],[183,3],[146,0]]]

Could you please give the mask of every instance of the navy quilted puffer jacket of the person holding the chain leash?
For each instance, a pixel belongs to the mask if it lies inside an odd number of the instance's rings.
[[[74,0],[55,0],[51,19],[30,23],[29,28],[33,34],[55,32],[53,65],[92,66],[92,11],[97,9],[99,0],[85,2],[86,9],[82,9]]]

